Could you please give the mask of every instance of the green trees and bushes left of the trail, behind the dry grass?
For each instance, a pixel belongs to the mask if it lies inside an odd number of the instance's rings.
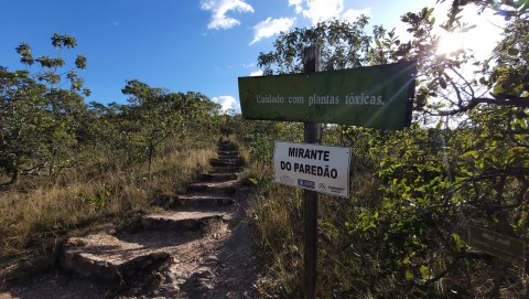
[[[61,53],[77,41],[55,33],[52,45]],[[78,75],[86,57],[77,55],[75,66],[63,70],[61,56],[33,58],[25,43],[15,51],[28,71],[0,67],[0,186],[20,174],[57,178],[101,159],[114,169],[147,162],[150,177],[169,140],[220,130],[219,105],[199,93],[171,93],[132,79],[122,89],[130,105],[88,106],[84,96],[90,92]],[[34,63],[37,72],[31,72]],[[69,89],[57,88],[66,82]]]

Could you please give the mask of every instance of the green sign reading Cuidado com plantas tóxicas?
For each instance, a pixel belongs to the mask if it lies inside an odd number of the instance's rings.
[[[411,122],[415,62],[239,77],[242,116],[402,129]]]

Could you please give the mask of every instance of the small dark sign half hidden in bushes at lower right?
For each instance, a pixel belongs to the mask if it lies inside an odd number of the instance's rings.
[[[523,267],[526,243],[476,226],[468,226],[468,245]]]

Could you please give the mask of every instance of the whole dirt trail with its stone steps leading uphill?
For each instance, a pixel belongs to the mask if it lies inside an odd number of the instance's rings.
[[[240,188],[238,151],[219,142],[215,171],[141,229],[109,228],[64,245],[57,270],[0,293],[8,298],[256,298],[259,259]]]

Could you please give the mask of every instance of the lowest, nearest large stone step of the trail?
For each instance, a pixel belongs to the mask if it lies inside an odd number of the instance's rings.
[[[170,254],[141,243],[131,243],[106,233],[69,238],[62,248],[60,266],[67,273],[126,289],[148,281],[154,271],[169,267]]]

